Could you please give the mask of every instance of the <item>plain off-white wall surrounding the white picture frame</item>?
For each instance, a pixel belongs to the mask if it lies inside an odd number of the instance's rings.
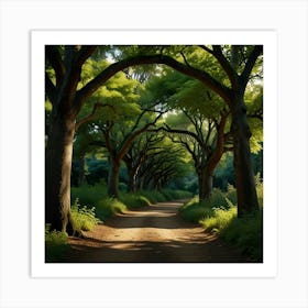
[[[1,308],[308,307],[306,0],[0,0],[0,16]],[[30,31],[127,28],[277,32],[278,156],[273,157],[273,164],[278,161],[275,278],[31,278]],[[296,160],[292,160],[294,150]]]

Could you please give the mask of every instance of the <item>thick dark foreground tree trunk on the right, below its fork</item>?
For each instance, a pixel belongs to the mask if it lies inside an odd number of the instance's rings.
[[[238,196],[238,216],[258,209],[252,155],[250,148],[251,130],[246,117],[243,96],[232,101],[232,134],[234,146],[234,170]]]

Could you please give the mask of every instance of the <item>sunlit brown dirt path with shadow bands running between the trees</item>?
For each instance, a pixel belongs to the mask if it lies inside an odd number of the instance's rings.
[[[109,219],[86,239],[69,238],[73,253],[62,262],[249,262],[177,213],[182,202],[152,205]]]

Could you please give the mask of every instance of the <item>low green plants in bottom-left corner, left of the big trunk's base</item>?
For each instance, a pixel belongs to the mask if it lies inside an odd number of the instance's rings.
[[[51,224],[45,226],[45,262],[55,262],[69,252],[67,233],[51,231]]]

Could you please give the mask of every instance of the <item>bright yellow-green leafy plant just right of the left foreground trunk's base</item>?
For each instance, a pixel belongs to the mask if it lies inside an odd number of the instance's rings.
[[[73,228],[75,231],[89,231],[92,230],[100,221],[96,217],[95,207],[88,208],[86,206],[79,205],[79,199],[77,198],[70,209]]]

